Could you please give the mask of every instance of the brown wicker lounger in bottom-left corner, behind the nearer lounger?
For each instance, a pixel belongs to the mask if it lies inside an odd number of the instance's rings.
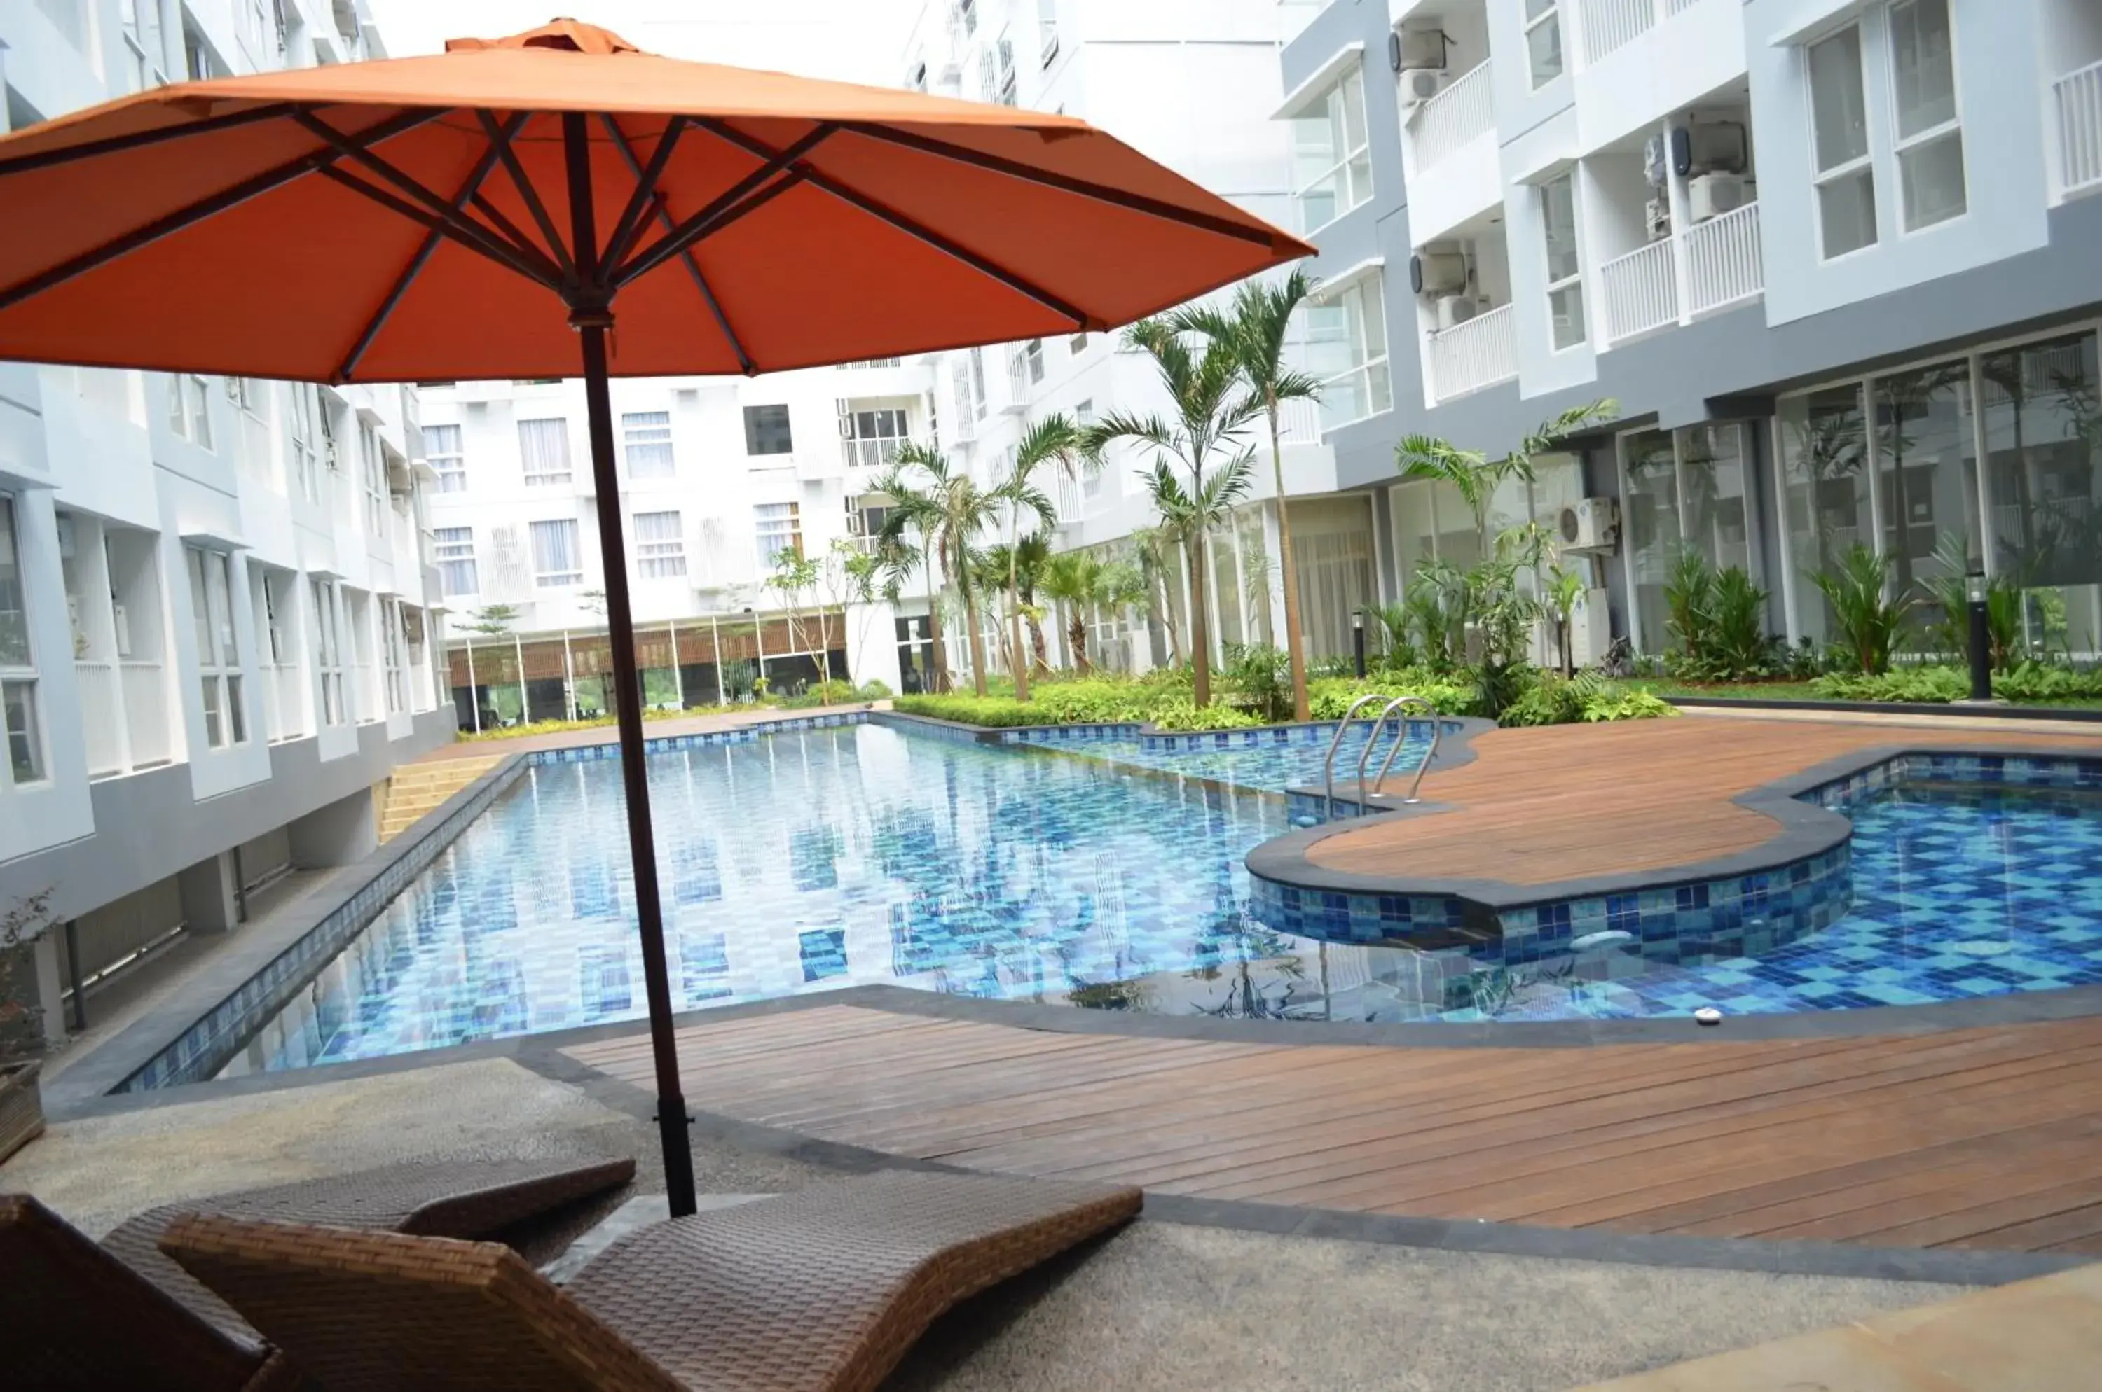
[[[0,1386],[11,1392],[229,1392],[296,1377],[240,1314],[158,1247],[183,1214],[488,1237],[626,1184],[635,1161],[431,1161],[170,1203],[101,1245],[0,1195]]]

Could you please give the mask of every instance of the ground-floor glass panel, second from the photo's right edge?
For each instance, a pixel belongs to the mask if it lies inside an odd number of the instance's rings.
[[[1875,487],[1894,592],[1932,588],[1982,563],[1978,451],[1970,361],[1894,372],[1869,384],[1875,405]],[[1932,605],[1913,609],[1934,624]]]

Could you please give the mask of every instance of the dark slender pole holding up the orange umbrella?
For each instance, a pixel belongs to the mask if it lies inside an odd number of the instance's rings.
[[[584,118],[563,118],[570,174],[570,220],[578,273],[597,277],[597,229],[591,216],[591,147]],[[679,1090],[679,1043],[671,1025],[671,968],[664,962],[664,909],[656,878],[656,831],[650,825],[650,768],[643,756],[641,678],[635,670],[635,613],[628,607],[628,556],[620,537],[620,474],[614,470],[614,407],[607,393],[605,334],[612,313],[572,304],[570,323],[584,349],[584,407],[591,426],[591,477],[597,483],[599,558],[605,569],[605,628],[614,649],[614,714],[620,726],[620,783],[628,804],[628,852],[635,861],[635,924],[643,938],[643,993],[650,999],[650,1058],[656,1064],[658,1138],[664,1146],[664,1197],[671,1216],[685,1218],[694,1203],[692,1117]]]

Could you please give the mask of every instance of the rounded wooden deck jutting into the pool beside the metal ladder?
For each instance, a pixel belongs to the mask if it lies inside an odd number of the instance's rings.
[[[1316,842],[1307,859],[1362,876],[1549,884],[1753,850],[1780,831],[1732,798],[1854,750],[1978,743],[2102,752],[2102,731],[1991,733],[1944,722],[1839,724],[1682,716],[1488,731],[1474,762],[1423,781],[1446,810]],[[1665,766],[1669,777],[1642,777]]]

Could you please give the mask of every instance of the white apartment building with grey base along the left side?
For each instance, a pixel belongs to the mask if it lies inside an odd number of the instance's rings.
[[[372,52],[353,0],[13,0],[0,126]],[[0,363],[0,905],[69,924],[46,1033],[74,983],[368,852],[372,787],[452,739],[427,479],[412,388]]]

